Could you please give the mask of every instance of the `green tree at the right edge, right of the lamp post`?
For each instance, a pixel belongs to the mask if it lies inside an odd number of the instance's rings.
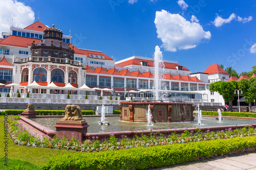
[[[256,97],[256,78],[240,80],[239,89],[243,91],[241,95],[244,96],[244,101],[248,103],[249,112],[251,112],[251,102],[254,102]]]

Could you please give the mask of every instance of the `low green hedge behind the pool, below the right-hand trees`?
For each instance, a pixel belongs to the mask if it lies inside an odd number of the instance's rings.
[[[218,116],[218,112],[214,111],[202,111],[202,115]],[[256,117],[256,113],[251,112],[221,112],[222,116],[233,116],[233,117]]]

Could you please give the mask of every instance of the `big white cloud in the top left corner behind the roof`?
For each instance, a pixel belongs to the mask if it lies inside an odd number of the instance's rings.
[[[9,32],[12,19],[14,27],[25,28],[33,23],[35,16],[33,10],[23,3],[12,0],[1,1],[0,32]]]

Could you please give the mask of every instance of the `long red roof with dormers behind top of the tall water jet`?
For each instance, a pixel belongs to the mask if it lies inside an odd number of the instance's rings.
[[[124,62],[121,62],[121,63],[118,63],[116,64],[116,66],[127,66],[127,65],[140,65],[141,66],[141,63],[140,62],[147,62],[147,65],[149,67],[154,67],[154,61],[152,60],[142,60],[142,59],[131,59],[131,60],[127,60],[127,61],[124,61]],[[176,66],[182,66],[180,64],[175,64],[175,63],[166,63],[164,62],[164,68],[167,68],[167,69],[176,69]],[[189,71],[186,67],[182,66],[183,67],[183,70],[184,71]]]

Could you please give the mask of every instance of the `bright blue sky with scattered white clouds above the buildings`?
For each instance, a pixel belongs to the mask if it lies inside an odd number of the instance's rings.
[[[116,61],[133,54],[153,57],[159,45],[164,59],[178,59],[191,72],[202,72],[215,63],[232,66],[239,73],[256,65],[255,1],[18,2],[34,12],[34,20],[25,20],[24,25],[37,21],[40,11],[39,20],[45,25],[55,24],[65,35],[71,29],[77,47],[102,51]],[[0,17],[11,25],[10,10],[3,13]],[[22,24],[18,20],[13,21],[16,27]]]

